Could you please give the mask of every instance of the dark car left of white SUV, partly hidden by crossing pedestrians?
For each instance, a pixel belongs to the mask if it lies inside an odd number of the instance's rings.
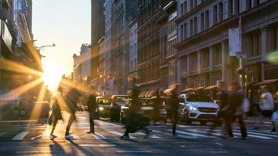
[[[152,114],[152,111],[154,110],[153,101],[152,98],[139,98],[139,101],[141,103],[140,110],[136,112],[138,114],[138,120],[142,122],[149,122],[150,121],[150,116]],[[122,123],[126,123],[126,118],[128,117],[129,114],[129,106],[131,105],[132,99],[130,98],[124,106],[121,109],[121,119]],[[166,110],[160,109],[159,110],[161,119],[166,123],[167,121],[167,112]]]

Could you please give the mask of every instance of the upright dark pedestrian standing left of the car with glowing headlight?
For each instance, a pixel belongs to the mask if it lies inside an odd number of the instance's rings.
[[[94,119],[98,119],[97,112],[99,109],[99,106],[97,105],[97,97],[93,94],[90,95],[87,105],[88,105],[88,111],[90,113],[90,131],[87,133],[95,133]]]

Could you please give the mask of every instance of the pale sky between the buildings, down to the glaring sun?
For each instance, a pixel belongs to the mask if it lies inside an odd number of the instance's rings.
[[[47,46],[40,53],[45,83],[51,91],[59,85],[63,74],[73,72],[74,53],[81,45],[90,44],[90,0],[33,0],[33,40],[35,46]],[[51,74],[51,76],[49,76]]]

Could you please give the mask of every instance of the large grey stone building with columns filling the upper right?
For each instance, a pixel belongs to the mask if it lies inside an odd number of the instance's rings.
[[[243,67],[247,67],[245,95],[256,103],[260,85],[278,89],[277,15],[278,1],[218,0],[177,1],[177,59],[181,71],[178,83],[183,92],[210,94],[216,98],[218,80],[237,81],[240,61],[230,56],[229,28],[238,28],[241,17]],[[218,13],[224,12],[224,13]],[[269,57],[271,56],[271,57]],[[204,89],[202,89],[204,88]]]

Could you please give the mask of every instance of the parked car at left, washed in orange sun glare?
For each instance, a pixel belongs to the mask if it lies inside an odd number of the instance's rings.
[[[49,110],[50,110],[50,105],[48,101],[42,101],[42,102],[35,102],[35,103],[29,103],[26,104],[26,116],[30,117],[32,112],[34,116],[31,117],[42,117],[42,118],[48,118],[49,117]],[[40,114],[36,114],[40,112]]]

